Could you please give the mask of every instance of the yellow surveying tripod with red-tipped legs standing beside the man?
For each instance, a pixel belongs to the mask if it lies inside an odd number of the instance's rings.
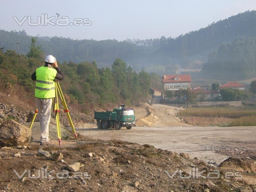
[[[56,127],[57,127],[57,134],[58,134],[58,139],[59,139],[59,145],[61,146],[61,133],[60,133],[60,116],[59,116],[59,112],[60,112],[60,109],[59,109],[59,99],[58,99],[58,94],[60,96],[60,100],[61,100],[61,103],[64,107],[64,113],[67,113],[67,117],[68,117],[68,121],[69,121],[69,124],[72,128],[72,131],[74,132],[74,135],[75,135],[75,138],[77,139],[77,134],[76,134],[76,130],[75,130],[75,127],[74,127],[74,124],[72,122],[72,119],[71,119],[71,116],[69,114],[69,110],[68,110],[68,106],[67,106],[67,103],[65,101],[65,98],[63,96],[63,93],[61,91],[61,88],[60,88],[60,84],[59,82],[55,82],[55,99],[53,98],[53,105],[54,105],[54,113],[55,113],[55,119],[56,119]],[[32,126],[33,126],[33,123],[36,119],[36,114],[38,113],[38,110],[36,108],[35,110],[35,114],[33,116],[33,119],[31,121],[31,124],[29,126],[29,128],[31,129]]]

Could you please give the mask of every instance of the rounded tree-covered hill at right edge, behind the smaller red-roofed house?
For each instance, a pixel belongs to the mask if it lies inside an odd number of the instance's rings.
[[[256,37],[236,38],[213,51],[202,76],[214,79],[248,79],[256,74]]]

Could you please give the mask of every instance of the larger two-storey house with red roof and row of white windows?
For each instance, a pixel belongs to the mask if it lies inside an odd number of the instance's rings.
[[[162,88],[163,90],[189,89],[191,81],[190,75],[163,75]]]

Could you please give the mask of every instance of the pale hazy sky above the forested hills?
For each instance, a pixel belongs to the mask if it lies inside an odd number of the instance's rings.
[[[0,29],[7,31],[24,29],[28,35],[63,36],[73,39],[150,39],[176,37],[192,30],[207,27],[213,21],[223,20],[239,12],[256,10],[255,0],[130,0],[130,1],[2,1]],[[48,18],[59,13],[69,17],[88,18],[91,26],[29,26],[47,13]],[[54,20],[52,20],[54,22]]]

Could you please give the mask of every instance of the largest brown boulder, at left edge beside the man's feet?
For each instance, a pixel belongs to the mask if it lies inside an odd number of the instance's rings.
[[[0,127],[0,146],[17,146],[28,144],[31,129],[12,119],[5,121]]]

